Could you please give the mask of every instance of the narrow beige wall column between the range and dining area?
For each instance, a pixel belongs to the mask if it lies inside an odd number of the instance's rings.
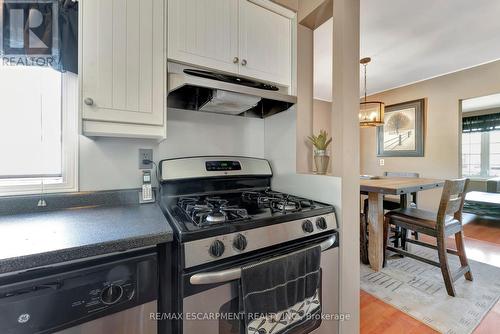
[[[332,171],[342,178],[340,333],[359,333],[359,41],[360,1],[333,2]]]

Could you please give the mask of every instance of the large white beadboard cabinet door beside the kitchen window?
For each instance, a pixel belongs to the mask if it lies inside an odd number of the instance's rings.
[[[85,0],[80,6],[83,118],[163,124],[165,0]]]

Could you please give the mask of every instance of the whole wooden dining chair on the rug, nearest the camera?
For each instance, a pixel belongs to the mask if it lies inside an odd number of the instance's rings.
[[[472,281],[472,272],[467,261],[467,255],[465,254],[462,232],[462,209],[468,184],[468,179],[447,180],[443,188],[437,214],[415,208],[406,208],[389,211],[385,214],[384,219],[384,248],[386,252],[390,250],[440,267],[446,291],[450,296],[455,296],[453,282],[460,276],[464,275],[465,279]],[[387,239],[391,224],[436,238],[436,246],[418,240],[408,239],[407,241],[437,250],[439,262],[420,257],[403,249],[388,246]],[[447,249],[446,247],[446,239],[451,235],[455,235],[457,250]],[[461,267],[454,273],[450,270],[447,253],[457,255],[460,258]]]

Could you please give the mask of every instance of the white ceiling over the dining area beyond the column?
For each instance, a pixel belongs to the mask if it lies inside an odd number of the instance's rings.
[[[499,17],[498,0],[361,0],[368,94],[500,59]],[[314,96],[327,101],[332,31],[330,19],[314,32]]]

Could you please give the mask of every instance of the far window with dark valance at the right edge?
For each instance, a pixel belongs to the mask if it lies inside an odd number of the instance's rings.
[[[500,130],[462,134],[462,174],[478,178],[500,176]]]

